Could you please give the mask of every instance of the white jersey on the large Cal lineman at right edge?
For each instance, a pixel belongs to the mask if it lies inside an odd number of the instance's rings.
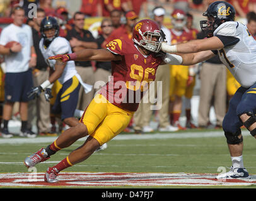
[[[248,32],[247,26],[236,21],[228,21],[214,31],[214,36],[216,35],[234,36],[240,39],[235,45],[218,50],[218,55],[242,87],[255,84],[256,41]]]

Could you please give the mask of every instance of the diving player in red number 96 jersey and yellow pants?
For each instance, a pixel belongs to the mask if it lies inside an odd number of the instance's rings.
[[[156,76],[160,64],[180,64],[178,55],[160,53],[165,36],[155,21],[143,19],[133,29],[132,44],[115,39],[107,49],[85,49],[67,55],[56,55],[49,59],[57,62],[69,60],[112,61],[112,79],[95,95],[84,111],[78,126],[69,128],[47,148],[26,157],[25,165],[34,166],[66,148],[79,138],[88,136],[78,149],[74,150],[57,165],[47,169],[45,181],[54,183],[59,171],[86,160],[99,146],[110,141],[126,128],[137,110],[148,84]]]

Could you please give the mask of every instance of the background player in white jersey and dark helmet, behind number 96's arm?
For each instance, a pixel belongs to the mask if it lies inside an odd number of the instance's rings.
[[[49,100],[52,97],[50,88],[55,80],[59,80],[62,88],[57,93],[52,112],[61,114],[62,121],[68,126],[76,126],[79,121],[74,117],[74,113],[78,103],[79,88],[82,85],[84,90],[89,92],[92,86],[83,83],[76,71],[74,61],[60,63],[48,60],[50,56],[58,53],[72,53],[69,41],[59,36],[59,24],[56,19],[50,16],[45,17],[40,25],[40,32],[42,39],[39,48],[50,66],[50,77],[49,80],[45,80],[41,85],[30,90],[28,97],[36,97],[41,92],[45,92],[45,98]]]

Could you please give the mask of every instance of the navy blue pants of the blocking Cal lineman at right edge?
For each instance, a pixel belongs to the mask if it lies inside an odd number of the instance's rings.
[[[229,133],[241,132],[243,126],[240,116],[247,112],[256,112],[256,84],[250,88],[240,87],[230,100],[228,112],[223,119],[223,130]]]

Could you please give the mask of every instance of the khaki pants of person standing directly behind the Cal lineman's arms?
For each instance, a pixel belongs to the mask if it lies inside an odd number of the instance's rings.
[[[197,34],[197,39],[203,38],[206,38],[206,35],[201,31]],[[209,111],[213,99],[216,116],[215,128],[222,128],[222,122],[226,114],[226,67],[219,60],[218,55],[202,63],[200,79],[198,126],[199,128],[209,126]]]

